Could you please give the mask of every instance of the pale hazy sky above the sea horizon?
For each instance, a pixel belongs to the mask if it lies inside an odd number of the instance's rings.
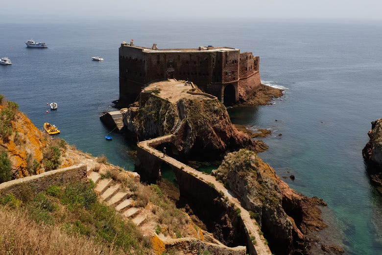
[[[381,20],[382,0],[0,0],[12,19],[261,18]]]

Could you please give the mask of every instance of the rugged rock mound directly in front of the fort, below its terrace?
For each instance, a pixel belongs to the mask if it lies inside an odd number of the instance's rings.
[[[182,98],[176,104],[179,116],[175,104],[155,93],[144,94],[139,107],[127,110],[124,119],[127,136],[143,140],[169,134],[180,117],[182,124],[175,139],[175,151],[180,157],[213,160],[243,147],[258,152],[267,148],[262,141],[251,140],[239,132],[217,99]]]

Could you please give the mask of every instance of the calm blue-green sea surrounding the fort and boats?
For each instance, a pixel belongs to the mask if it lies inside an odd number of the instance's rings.
[[[229,109],[231,120],[268,128],[260,154],[286,182],[334,212],[346,254],[382,254],[382,199],[370,185],[361,149],[382,117],[382,24],[360,22],[0,22],[0,93],[38,127],[94,156],[132,170],[131,149],[99,120],[118,99],[122,41],[160,48],[232,46],[261,57],[263,83],[285,88],[270,106]],[[47,49],[26,48],[35,39]],[[95,62],[92,56],[105,61]],[[47,103],[58,103],[48,112]],[[276,121],[277,120],[277,121]],[[282,136],[278,136],[282,134]]]

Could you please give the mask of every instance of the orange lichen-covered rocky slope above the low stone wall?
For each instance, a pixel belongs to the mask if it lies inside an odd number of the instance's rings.
[[[1,99],[1,98],[0,98]],[[86,163],[91,156],[40,131],[14,102],[0,104],[0,153],[10,161],[11,179]],[[92,164],[91,164],[92,165]]]

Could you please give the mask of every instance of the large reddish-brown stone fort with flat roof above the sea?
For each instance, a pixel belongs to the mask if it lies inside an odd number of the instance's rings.
[[[261,84],[259,56],[237,48],[199,46],[159,49],[135,46],[133,40],[119,47],[119,106],[135,102],[144,86],[163,79],[192,81],[215,95],[224,105],[245,101]]]

